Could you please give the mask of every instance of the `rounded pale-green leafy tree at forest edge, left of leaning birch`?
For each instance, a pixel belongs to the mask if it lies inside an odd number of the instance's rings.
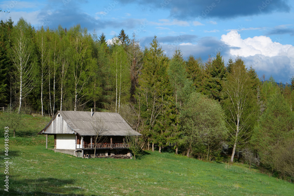
[[[209,155],[219,151],[228,130],[221,106],[207,96],[192,93],[181,111],[181,144],[191,153]],[[205,150],[201,151],[199,146]],[[198,148],[197,148],[198,147]]]

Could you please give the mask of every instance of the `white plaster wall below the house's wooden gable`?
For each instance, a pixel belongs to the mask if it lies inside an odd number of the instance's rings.
[[[56,134],[56,149],[72,149],[75,150],[76,137],[75,134]]]

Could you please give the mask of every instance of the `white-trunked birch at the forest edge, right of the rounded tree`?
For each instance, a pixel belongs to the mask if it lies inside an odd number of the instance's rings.
[[[224,92],[227,95],[224,108],[233,147],[230,162],[233,162],[236,148],[249,141],[251,127],[254,126],[250,123],[257,108],[253,105],[257,102],[252,100],[254,95],[251,86],[250,75],[242,59],[238,57],[224,82]]]

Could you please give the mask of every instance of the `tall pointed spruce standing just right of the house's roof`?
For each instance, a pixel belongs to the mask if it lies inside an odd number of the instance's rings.
[[[150,48],[145,49],[143,61],[142,74],[139,77],[140,88],[136,88],[137,94],[142,97],[141,107],[144,108],[141,114],[145,120],[145,129],[141,133],[147,138],[146,142],[152,142],[153,147],[154,143],[163,146],[166,143],[166,138],[163,137],[165,129],[162,127],[162,119],[159,118],[164,116],[166,105],[170,104],[165,96],[170,87],[166,73],[166,57],[156,36],[150,43]]]

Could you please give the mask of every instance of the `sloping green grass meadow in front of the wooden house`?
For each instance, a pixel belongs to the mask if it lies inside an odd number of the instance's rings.
[[[168,152],[147,152],[137,161],[81,159],[38,145],[44,136],[9,139],[9,195],[293,195],[294,190],[293,183],[237,163]],[[0,149],[3,160],[4,138]],[[1,171],[4,178],[3,161]],[[8,195],[3,184],[0,193]]]

